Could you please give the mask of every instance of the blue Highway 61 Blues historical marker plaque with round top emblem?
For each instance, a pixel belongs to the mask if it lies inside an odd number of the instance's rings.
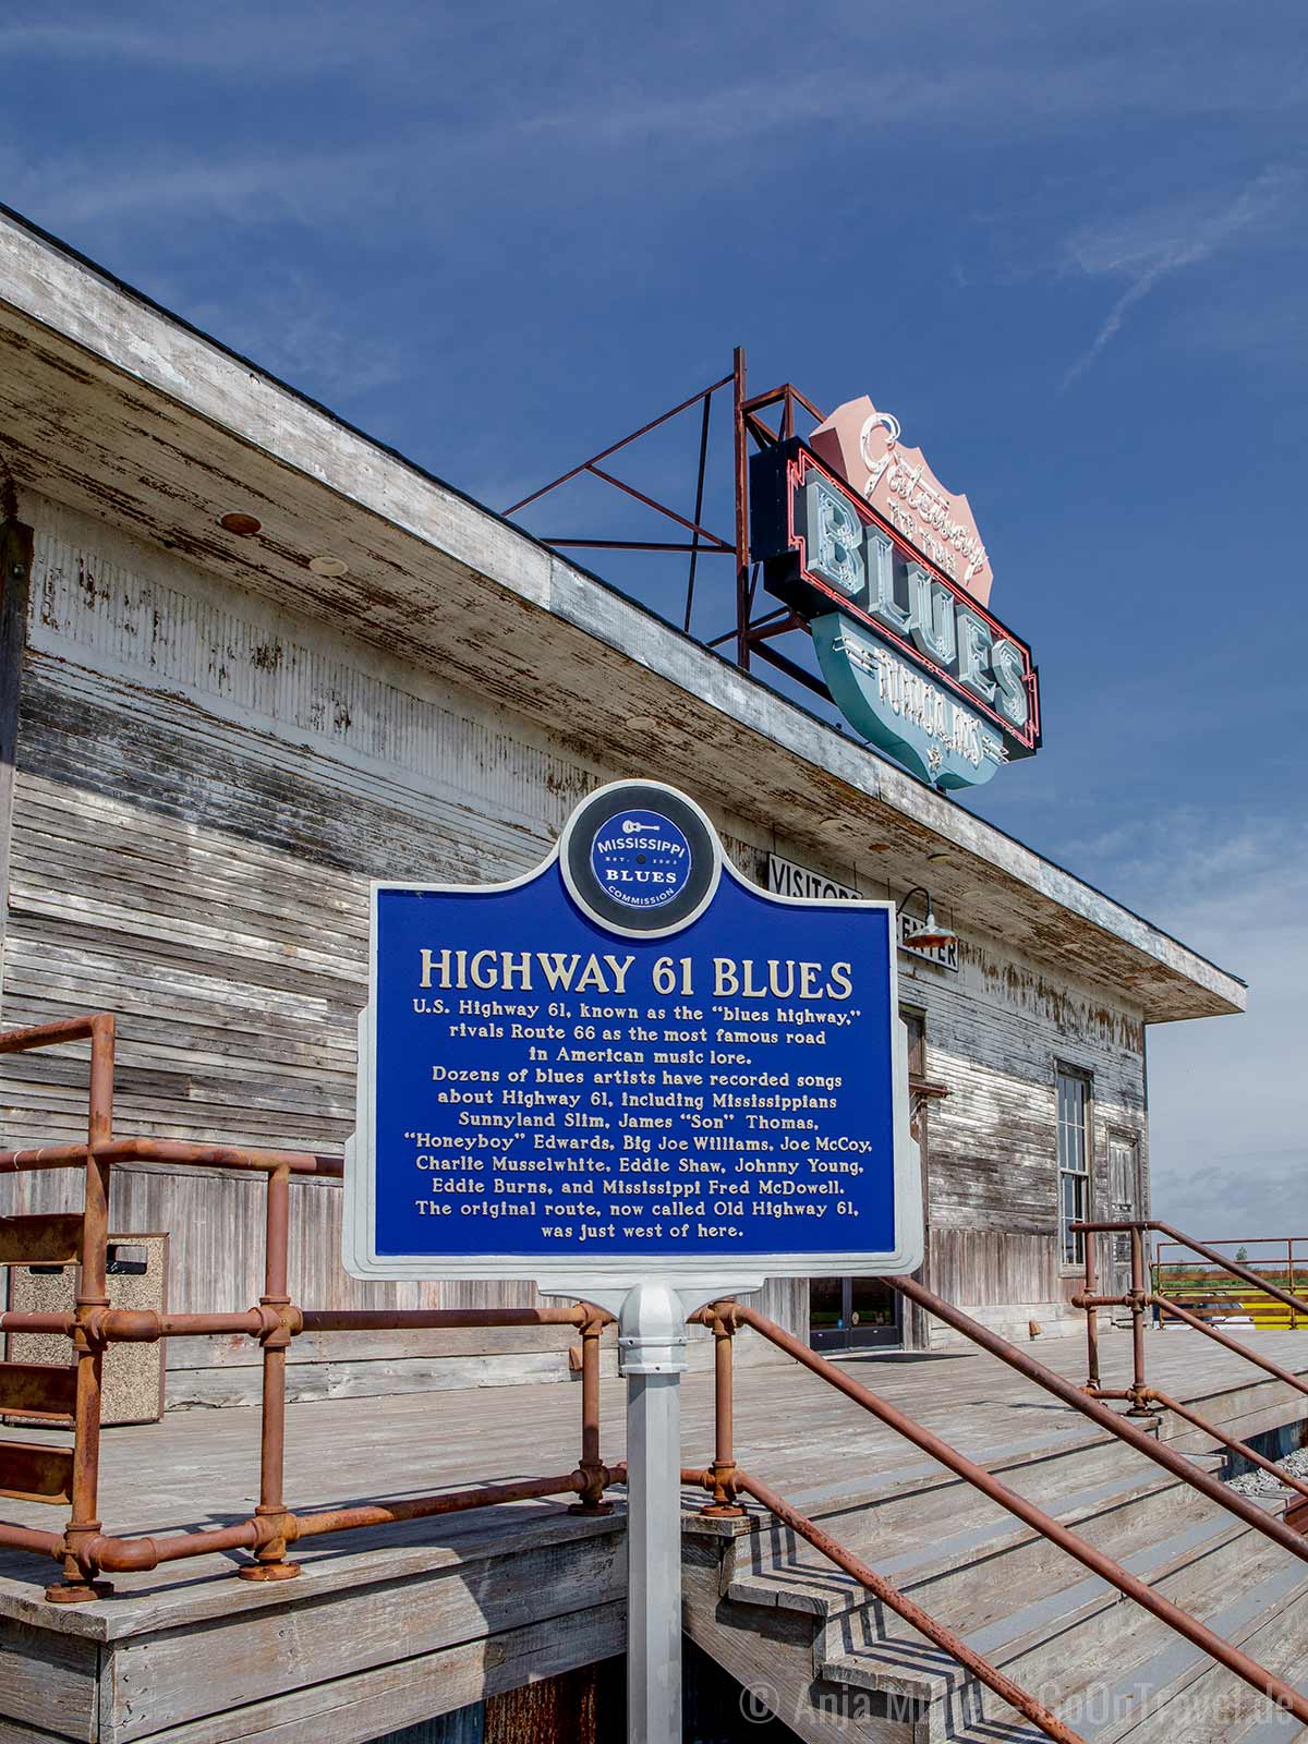
[[[370,1278],[921,1263],[895,910],[795,902],[696,804],[593,794],[509,884],[377,884],[345,1264]]]

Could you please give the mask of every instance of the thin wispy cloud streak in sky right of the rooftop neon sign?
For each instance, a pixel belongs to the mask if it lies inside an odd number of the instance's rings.
[[[1170,209],[1144,213],[1127,227],[1078,232],[1067,242],[1073,265],[1088,276],[1125,277],[1128,283],[1109,309],[1090,349],[1064,375],[1062,387],[1071,387],[1085,375],[1118,337],[1135,303],[1163,279],[1210,260],[1257,230],[1298,185],[1296,173],[1266,169],[1216,209],[1196,211],[1193,201],[1186,201]]]

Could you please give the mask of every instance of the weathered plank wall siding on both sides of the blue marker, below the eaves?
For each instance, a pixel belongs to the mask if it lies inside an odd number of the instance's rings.
[[[354,1022],[364,998],[371,877],[473,881],[537,863],[595,785],[637,773],[591,760],[506,708],[244,595],[192,563],[58,504],[37,523],[21,677],[3,956],[3,1022],[110,1008],[120,1017],[120,1132],[338,1149],[352,1125]],[[523,659],[530,659],[525,638]],[[621,712],[621,699],[616,699]],[[698,792],[750,874],[767,848],[732,792]],[[736,795],[738,797],[738,795]],[[900,895],[898,853],[820,867]],[[1071,1291],[1057,1263],[1053,1062],[1093,1076],[1095,1163],[1107,1125],[1141,1135],[1142,1025],[1118,996],[1008,952],[963,910],[963,971],[902,957],[926,1012],[928,1278],[1025,1332]],[[82,1050],[0,1062],[5,1142],[75,1137]],[[72,1182],[24,1177],[9,1203],[63,1203]],[[338,1189],[295,1188],[293,1289],[316,1305],[530,1299],[521,1285],[363,1285],[338,1259]],[[115,1172],[113,1223],[167,1230],[178,1311],[248,1306],[260,1289],[256,1182],[206,1170]],[[807,1291],[762,1306],[806,1327]],[[567,1374],[565,1338],[420,1341],[368,1355],[300,1352],[300,1397]],[[174,1402],[249,1397],[249,1353],[171,1352]]]

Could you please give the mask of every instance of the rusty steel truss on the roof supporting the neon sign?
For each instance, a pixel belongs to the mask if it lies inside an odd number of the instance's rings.
[[[734,506],[734,527],[731,537],[713,532],[703,523],[713,396],[726,389],[731,389],[731,474]],[[633,443],[640,441],[642,436],[649,436],[651,431],[661,429],[682,413],[691,412],[694,406],[701,408],[701,417],[699,460],[696,467],[694,508],[691,514],[682,514],[670,502],[661,502],[657,497],[651,497],[644,490],[637,490],[637,487],[628,480],[617,478],[600,464],[602,460],[609,460],[610,455],[630,448]],[[773,415],[774,424],[764,417],[766,412]],[[800,412],[807,413],[814,424],[821,424],[825,419],[825,413],[820,412],[811,399],[800,394],[794,382],[783,382],[780,387],[773,387],[764,394],[750,394],[746,387],[745,347],[738,345],[732,356],[731,375],[724,375],[717,382],[710,382],[708,387],[703,387],[698,394],[691,394],[689,399],[682,399],[680,405],[673,406],[670,412],[663,412],[659,417],[651,419],[649,424],[642,424],[640,429],[631,431],[630,436],[619,438],[619,441],[610,443],[598,453],[593,453],[588,460],[579,462],[567,473],[560,473],[560,476],[549,480],[548,485],[541,485],[539,490],[534,490],[530,495],[509,504],[509,508],[504,509],[504,514],[514,516],[521,509],[530,508],[530,504],[539,502],[542,497],[548,497],[551,492],[579,478],[593,478],[602,485],[609,485],[610,488],[623,492],[623,495],[640,502],[645,509],[652,509],[656,514],[664,516],[664,520],[673,521],[691,537],[593,539],[572,534],[542,534],[539,535],[541,544],[551,546],[556,551],[684,553],[689,558],[689,563],[685,576],[685,603],[678,616],[682,630],[687,635],[691,633],[691,619],[694,614],[694,589],[699,558],[734,558],[736,623],[731,630],[708,637],[705,640],[705,647],[715,649],[731,644],[732,656],[741,670],[748,671],[752,659],[759,657],[776,671],[785,673],[795,684],[800,684],[816,696],[830,701],[830,691],[816,673],[773,647],[776,637],[788,635],[795,630],[807,633],[802,617],[788,607],[767,610],[760,617],[753,616],[759,591],[759,565],[750,560],[750,445],[753,445],[755,450],[762,450],[773,448],[780,441],[790,441],[790,438],[797,434],[795,419]]]

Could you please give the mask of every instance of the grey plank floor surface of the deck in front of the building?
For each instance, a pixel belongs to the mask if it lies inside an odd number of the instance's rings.
[[[1308,1331],[1252,1332],[1243,1343],[1282,1367],[1308,1374]],[[1085,1345],[1076,1338],[1027,1346],[1043,1364],[1071,1380],[1085,1380]],[[891,1404],[916,1416],[945,1441],[982,1463],[1008,1460],[1053,1444],[1097,1437],[1078,1413],[998,1360],[968,1350],[931,1355],[863,1355],[846,1366]],[[1130,1339],[1102,1336],[1106,1386],[1130,1380]],[[1261,1373],[1189,1331],[1151,1332],[1149,1383],[1184,1400],[1202,1400],[1231,1386],[1256,1383]],[[616,1463],[624,1453],[621,1380],[602,1383],[602,1453]],[[1200,1406],[1202,1409],[1202,1406]],[[569,1472],[579,1451],[579,1385],[480,1386],[382,1399],[316,1400],[288,1407],[286,1498],[296,1510],[338,1503],[429,1495],[445,1488]],[[1308,1399],[1305,1399],[1308,1416]],[[0,1430],[14,1439],[66,1444],[63,1432]],[[712,1374],[682,1381],[682,1448],[687,1465],[713,1454]],[[882,1491],[938,1470],[931,1460],[882,1428],[816,1376],[778,1353],[776,1362],[736,1373],[736,1458],[759,1472],[797,1507],[823,1507],[841,1493]],[[174,1411],[162,1423],[105,1430],[101,1456],[101,1519],[106,1533],[176,1533],[244,1519],[258,1500],[258,1411]],[[40,1505],[0,1502],[17,1524],[58,1524],[59,1512]],[[314,1538],[296,1561],[316,1577],[331,1564],[363,1554],[385,1557],[398,1547],[439,1545],[483,1529],[499,1533],[504,1517],[560,1512],[553,1503],[518,1503],[494,1516],[446,1516],[389,1529]],[[167,1603],[169,1587],[194,1594],[220,1580],[239,1603],[248,1585],[228,1584],[239,1552],[173,1563],[150,1573],[117,1575],[117,1596],[105,1611]],[[38,1557],[0,1554],[0,1606],[38,1601],[49,1570]],[[295,1584],[303,1589],[305,1578]],[[295,1587],[283,1587],[281,1598]],[[44,1606],[42,1606],[44,1608]],[[85,1615],[85,1613],[82,1613]]]

